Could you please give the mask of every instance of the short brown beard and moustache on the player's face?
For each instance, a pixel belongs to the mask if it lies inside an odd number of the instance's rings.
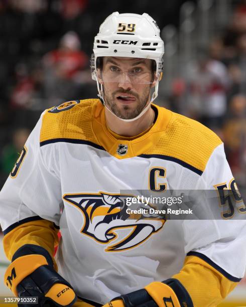
[[[137,106],[133,107],[131,104],[122,104],[118,105],[115,100],[117,99],[117,94],[118,93],[124,93],[124,94],[130,94],[133,95],[137,102]],[[132,119],[137,117],[145,108],[147,105],[149,98],[150,98],[150,88],[146,87],[143,89],[142,95],[138,95],[136,92],[131,91],[131,90],[117,90],[112,93],[108,93],[105,91],[103,88],[103,96],[104,96],[104,101],[106,106],[109,108],[109,110],[112,111],[112,113],[121,118],[121,119]]]

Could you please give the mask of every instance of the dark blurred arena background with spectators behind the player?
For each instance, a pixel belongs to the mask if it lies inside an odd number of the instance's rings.
[[[114,11],[157,21],[165,55],[156,103],[214,130],[245,189],[246,1],[240,0],[0,0],[0,187],[44,109],[97,97],[89,58],[99,25]],[[0,295],[9,293],[2,281],[7,263],[1,243]],[[226,301],[246,306],[245,280]]]

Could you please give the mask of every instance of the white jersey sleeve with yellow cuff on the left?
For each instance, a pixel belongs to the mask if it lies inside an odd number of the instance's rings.
[[[57,244],[61,185],[52,148],[40,147],[42,116],[0,193],[0,223],[9,260],[25,244],[46,248]]]

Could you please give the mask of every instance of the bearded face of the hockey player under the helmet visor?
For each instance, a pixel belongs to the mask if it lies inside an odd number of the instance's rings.
[[[135,118],[150,101],[154,86],[150,59],[103,57],[99,74],[105,104],[117,117]]]

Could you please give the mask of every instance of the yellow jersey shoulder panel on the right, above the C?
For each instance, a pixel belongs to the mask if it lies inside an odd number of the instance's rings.
[[[160,109],[162,113],[166,113]],[[196,120],[168,111],[168,124],[147,154],[163,155],[201,174],[214,149],[222,143],[209,128]]]

